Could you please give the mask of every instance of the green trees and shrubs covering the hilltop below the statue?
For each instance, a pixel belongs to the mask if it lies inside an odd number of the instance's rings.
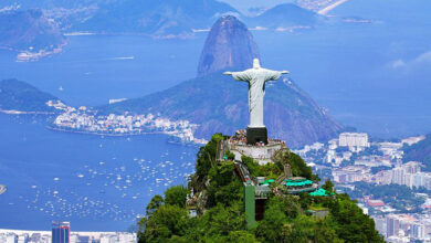
[[[139,242],[383,242],[375,230],[375,222],[364,214],[347,194],[312,197],[271,194],[262,221],[246,228],[243,184],[232,161],[216,161],[214,135],[198,152],[196,173],[188,188],[168,189],[165,197],[156,196],[147,205],[147,215],[139,222]],[[250,172],[263,176],[282,173],[288,162],[293,176],[318,180],[301,157],[291,152],[274,163],[260,166],[243,157]],[[327,181],[324,188],[332,192]],[[190,194],[192,191],[192,194]],[[189,199],[189,200],[188,200]],[[188,201],[195,201],[197,216],[189,215]],[[309,209],[327,209],[326,218],[309,215]]]

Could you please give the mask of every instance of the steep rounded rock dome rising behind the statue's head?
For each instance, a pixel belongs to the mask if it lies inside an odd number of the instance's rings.
[[[249,68],[256,57],[259,49],[245,24],[233,15],[224,15],[212,25],[208,34],[198,76],[227,68]]]

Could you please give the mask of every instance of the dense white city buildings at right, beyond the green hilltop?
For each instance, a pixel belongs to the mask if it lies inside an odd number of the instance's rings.
[[[296,150],[317,171],[328,171],[326,177],[338,189],[355,191],[355,182],[366,182],[370,188],[379,184],[403,184],[414,190],[431,190],[431,172],[422,171],[420,161],[402,162],[403,146],[411,146],[424,136],[400,141],[371,142],[367,134],[343,133],[328,144],[316,142]],[[413,191],[414,192],[414,191]],[[431,242],[431,196],[413,193],[424,199],[421,212],[401,213],[372,194],[356,198],[365,213],[371,212],[376,228],[388,242]],[[411,205],[404,205],[408,209]],[[372,210],[371,210],[372,209]]]

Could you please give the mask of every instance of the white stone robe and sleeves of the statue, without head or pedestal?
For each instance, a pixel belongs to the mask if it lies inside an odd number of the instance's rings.
[[[249,83],[249,127],[265,127],[263,125],[263,97],[265,96],[266,81],[275,81],[282,75],[278,71],[265,68],[250,68],[243,72],[232,72],[236,81]]]

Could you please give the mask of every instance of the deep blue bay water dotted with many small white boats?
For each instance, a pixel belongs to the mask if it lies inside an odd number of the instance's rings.
[[[101,137],[45,128],[45,116],[0,114],[0,229],[125,231],[153,196],[185,184],[197,148],[161,135]]]

